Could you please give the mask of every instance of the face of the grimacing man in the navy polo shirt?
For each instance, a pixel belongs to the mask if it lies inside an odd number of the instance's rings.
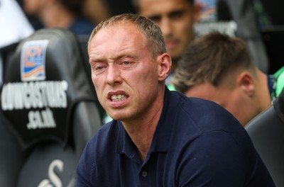
[[[156,102],[163,103],[157,99],[163,80],[141,31],[133,23],[119,24],[94,35],[89,62],[104,110],[115,120],[133,120],[147,115]]]

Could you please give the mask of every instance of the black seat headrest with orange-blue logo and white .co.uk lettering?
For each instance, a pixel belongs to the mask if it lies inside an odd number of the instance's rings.
[[[94,99],[82,52],[67,29],[37,30],[11,57],[1,110],[23,148],[40,141],[68,141],[72,106]]]

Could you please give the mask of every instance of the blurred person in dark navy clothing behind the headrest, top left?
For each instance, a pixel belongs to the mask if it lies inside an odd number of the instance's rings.
[[[95,23],[84,18],[83,8],[81,0],[23,0],[23,10],[38,18],[43,28],[69,28],[77,35],[89,35]]]

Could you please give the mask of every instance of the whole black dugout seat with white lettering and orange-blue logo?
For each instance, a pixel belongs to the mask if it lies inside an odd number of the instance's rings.
[[[16,47],[1,90],[0,186],[75,186],[77,161],[102,126],[83,61],[63,28]]]

